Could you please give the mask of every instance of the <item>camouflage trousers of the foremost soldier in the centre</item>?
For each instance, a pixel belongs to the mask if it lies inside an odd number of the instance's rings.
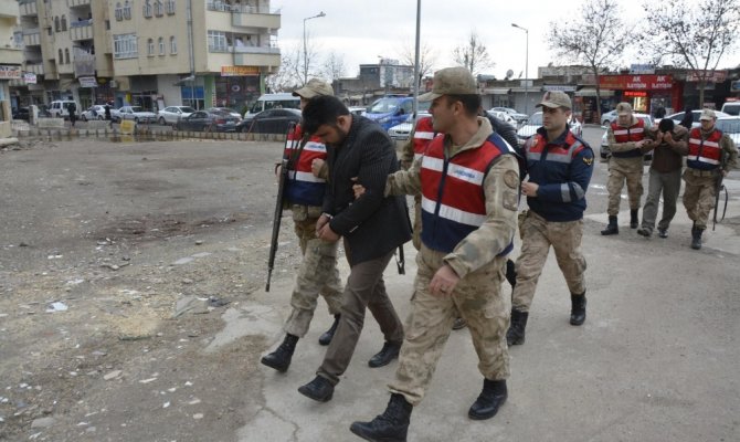
[[[414,406],[424,398],[457,317],[467,322],[480,373],[490,380],[509,377],[506,330],[509,328],[510,304],[508,296],[501,295],[506,257],[496,257],[493,263],[466,275],[452,295],[435,296],[429,286],[445,255],[424,245],[416,254],[419,272],[411,313],[404,326],[406,333],[395,379],[389,385],[391,392],[403,394]]]

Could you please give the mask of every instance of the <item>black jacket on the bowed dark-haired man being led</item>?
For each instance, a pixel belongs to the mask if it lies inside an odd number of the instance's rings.
[[[334,218],[331,230],[349,245],[350,265],[384,256],[411,239],[403,197],[383,197],[388,176],[399,170],[393,141],[377,123],[352,116],[349,134],[339,146],[328,146],[329,182],[324,211]],[[355,200],[352,178],[366,189]]]

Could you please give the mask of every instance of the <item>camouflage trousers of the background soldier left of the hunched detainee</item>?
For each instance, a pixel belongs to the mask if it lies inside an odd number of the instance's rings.
[[[643,196],[643,157],[638,158],[610,158],[609,160],[609,181],[606,191],[609,192],[609,207],[606,213],[616,217],[620,213],[620,200],[622,199],[622,188],[627,182],[627,197],[630,199],[630,209],[639,209],[639,199]]]

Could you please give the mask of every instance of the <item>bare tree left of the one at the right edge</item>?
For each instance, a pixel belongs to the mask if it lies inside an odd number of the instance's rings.
[[[596,113],[601,120],[601,87],[599,77],[604,70],[615,66],[634,36],[620,18],[614,0],[586,0],[579,14],[550,23],[548,45],[559,56],[591,69],[596,83]],[[568,23],[563,27],[562,23]]]

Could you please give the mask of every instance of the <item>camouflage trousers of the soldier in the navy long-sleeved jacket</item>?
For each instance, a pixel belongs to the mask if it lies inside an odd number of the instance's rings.
[[[517,285],[511,294],[512,308],[529,312],[550,245],[570,293],[585,292],[586,265],[581,252],[583,220],[552,222],[530,210],[522,223],[521,234],[521,253],[515,264]]]

